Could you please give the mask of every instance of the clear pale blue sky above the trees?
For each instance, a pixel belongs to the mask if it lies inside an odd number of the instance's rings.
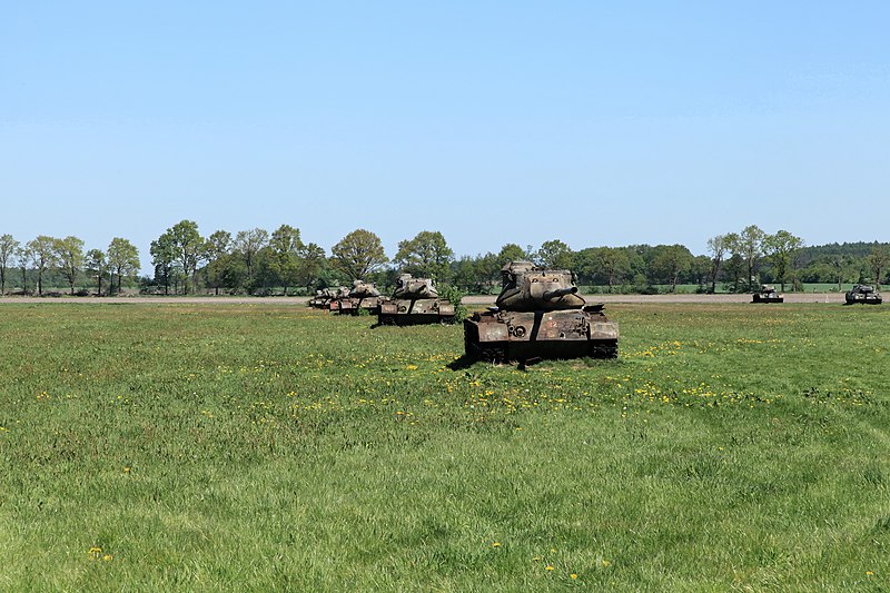
[[[886,1],[3,2],[0,233],[887,241],[888,31]]]

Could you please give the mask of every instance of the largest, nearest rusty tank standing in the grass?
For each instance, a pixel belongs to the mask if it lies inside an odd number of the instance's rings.
[[[468,357],[500,363],[617,356],[617,324],[603,305],[586,305],[568,270],[513,261],[501,274],[496,306],[464,320]]]

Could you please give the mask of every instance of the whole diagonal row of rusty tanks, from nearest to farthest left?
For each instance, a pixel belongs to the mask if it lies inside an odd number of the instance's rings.
[[[495,306],[464,319],[464,347],[471,359],[501,363],[538,358],[615,358],[619,326],[603,305],[587,305],[572,274],[512,261],[501,270],[503,288]],[[309,306],[340,315],[360,310],[380,325],[454,322],[454,305],[441,298],[428,278],[399,276],[392,298],[362,280],[352,289],[318,290]]]

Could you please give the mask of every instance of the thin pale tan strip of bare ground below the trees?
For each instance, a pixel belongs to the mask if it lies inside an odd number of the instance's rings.
[[[751,303],[751,295],[585,295],[587,303]],[[789,293],[785,303],[843,303],[843,293]],[[492,296],[464,297],[466,305],[494,305]],[[1,297],[2,304],[72,303],[81,305],[303,305],[307,297]]]

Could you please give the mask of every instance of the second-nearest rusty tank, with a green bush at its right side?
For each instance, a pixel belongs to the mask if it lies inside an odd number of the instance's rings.
[[[377,320],[380,325],[451,323],[454,320],[454,305],[447,298],[438,297],[429,278],[403,274],[396,280],[393,298],[380,303]]]

